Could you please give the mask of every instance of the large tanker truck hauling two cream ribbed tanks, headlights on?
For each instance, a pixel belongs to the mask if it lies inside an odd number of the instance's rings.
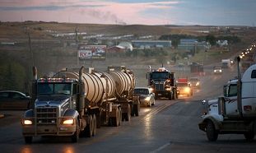
[[[122,119],[129,121],[132,112],[138,115],[133,72],[125,68],[108,72],[84,69],[60,71],[51,78],[37,79],[36,67],[33,68],[35,103],[21,118],[26,143],[36,136],[70,137],[77,142],[80,136],[95,136],[101,125],[117,127]]]

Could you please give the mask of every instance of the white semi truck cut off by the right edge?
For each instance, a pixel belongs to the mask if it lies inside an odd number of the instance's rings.
[[[223,95],[217,100],[204,100],[206,111],[199,129],[207,133],[209,141],[216,141],[219,134],[244,134],[253,140],[256,133],[256,64],[241,76],[240,57],[238,78],[228,81]]]

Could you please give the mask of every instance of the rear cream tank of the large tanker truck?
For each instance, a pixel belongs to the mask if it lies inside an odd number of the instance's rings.
[[[108,73],[114,78],[117,96],[123,95],[124,91],[130,93],[134,89],[135,76],[133,72],[129,70],[115,71],[110,69]]]

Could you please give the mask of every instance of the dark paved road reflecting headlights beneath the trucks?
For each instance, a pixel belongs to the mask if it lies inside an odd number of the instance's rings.
[[[36,137],[26,145],[18,122],[21,112],[4,112],[10,115],[0,119],[1,152],[256,152],[256,141],[245,141],[243,135],[219,135],[218,141],[209,142],[198,129],[201,100],[221,95],[223,84],[234,75],[232,70],[203,76],[203,86],[194,90],[193,97],[156,100],[155,106],[142,108],[140,116],[131,122],[101,127],[95,137],[81,138],[78,143],[63,137]]]

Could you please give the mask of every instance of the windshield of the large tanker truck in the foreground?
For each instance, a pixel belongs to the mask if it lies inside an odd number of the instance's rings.
[[[37,86],[38,95],[70,95],[71,83],[39,83]]]

